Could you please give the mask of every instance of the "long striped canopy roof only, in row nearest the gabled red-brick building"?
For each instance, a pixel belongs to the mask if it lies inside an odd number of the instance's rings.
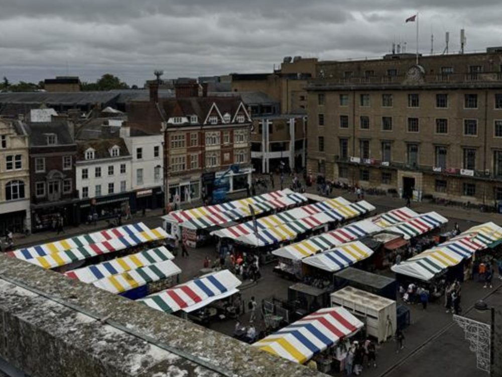
[[[250,216],[249,205],[252,205],[256,213],[271,211],[278,208],[285,208],[292,205],[305,203],[307,198],[289,189],[262,194],[247,199],[239,199],[232,202],[217,204],[214,206],[198,207],[190,210],[179,210],[171,212],[168,218],[172,222],[179,224],[190,223],[190,220],[199,218],[211,218],[218,223],[215,214],[224,215],[230,219],[237,220]],[[208,221],[212,221],[208,220]],[[189,226],[189,225],[188,225]]]

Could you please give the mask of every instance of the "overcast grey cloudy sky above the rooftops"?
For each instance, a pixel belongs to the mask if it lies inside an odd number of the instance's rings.
[[[7,3],[7,4],[6,4]],[[270,72],[284,56],[382,56],[392,42],[415,50],[502,45],[500,0],[1,0],[0,76],[39,81],[113,73],[142,85],[165,78]]]

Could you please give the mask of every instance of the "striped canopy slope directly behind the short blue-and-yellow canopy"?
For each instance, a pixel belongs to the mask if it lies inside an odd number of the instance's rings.
[[[355,241],[380,230],[382,228],[376,226],[371,221],[362,220],[274,250],[272,254],[286,259],[300,260],[344,243]]]

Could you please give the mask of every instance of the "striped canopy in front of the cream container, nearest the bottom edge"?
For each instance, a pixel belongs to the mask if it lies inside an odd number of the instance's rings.
[[[287,360],[305,363],[312,356],[354,335],[363,323],[345,308],[318,310],[253,344]]]

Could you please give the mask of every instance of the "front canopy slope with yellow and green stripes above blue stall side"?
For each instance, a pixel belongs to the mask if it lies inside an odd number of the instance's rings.
[[[111,293],[123,293],[151,282],[166,279],[181,273],[181,269],[172,260],[166,260],[149,266],[122,272],[94,281],[92,284]]]

